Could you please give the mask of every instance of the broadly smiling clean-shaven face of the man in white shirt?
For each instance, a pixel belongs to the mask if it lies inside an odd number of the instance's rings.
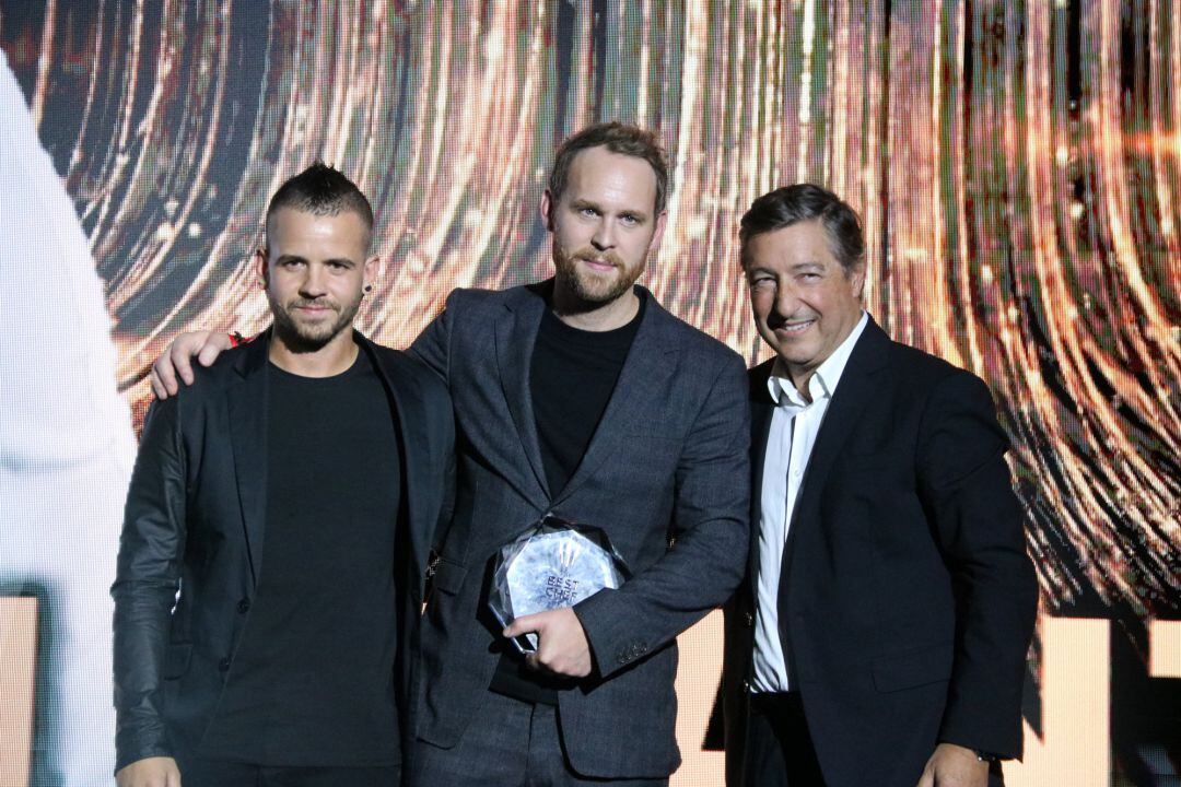
[[[743,262],[758,334],[804,391],[861,319],[864,264],[846,271],[818,221],[751,237]]]

